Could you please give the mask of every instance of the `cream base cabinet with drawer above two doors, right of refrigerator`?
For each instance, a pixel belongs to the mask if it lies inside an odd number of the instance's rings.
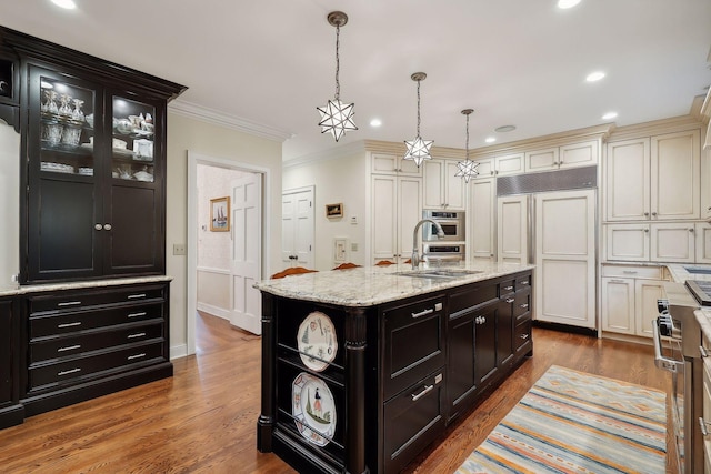
[[[602,331],[652,337],[657,300],[663,296],[663,269],[603,265],[602,275]]]

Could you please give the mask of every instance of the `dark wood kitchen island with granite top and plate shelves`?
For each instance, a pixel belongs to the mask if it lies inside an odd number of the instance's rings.
[[[257,447],[300,472],[399,472],[532,354],[532,269],[391,265],[257,283]]]

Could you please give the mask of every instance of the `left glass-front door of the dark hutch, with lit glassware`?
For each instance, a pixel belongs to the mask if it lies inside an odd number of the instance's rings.
[[[30,280],[96,276],[101,272],[102,91],[30,68],[27,153]]]

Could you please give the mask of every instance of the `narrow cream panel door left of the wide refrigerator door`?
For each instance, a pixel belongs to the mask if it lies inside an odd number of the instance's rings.
[[[499,198],[499,262],[529,263],[528,200],[525,195]]]

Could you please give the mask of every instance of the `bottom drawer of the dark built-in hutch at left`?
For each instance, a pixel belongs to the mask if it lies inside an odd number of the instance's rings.
[[[47,385],[62,385],[82,382],[110,370],[122,370],[156,359],[162,359],[163,343],[134,345],[103,354],[81,355],[52,364],[32,366],[28,371],[29,390]]]

